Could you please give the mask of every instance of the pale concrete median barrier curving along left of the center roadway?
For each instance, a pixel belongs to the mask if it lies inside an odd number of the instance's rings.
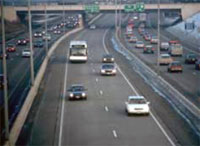
[[[48,51],[48,54],[47,56],[45,57],[42,65],[40,66],[40,69],[38,71],[38,74],[35,78],[35,82],[34,82],[34,85],[31,87],[28,95],[27,95],[27,98],[24,102],[24,105],[22,106],[16,120],[15,120],[15,123],[13,124],[13,127],[10,131],[10,136],[9,136],[9,141],[6,142],[6,146],[8,145],[15,145],[18,137],[19,137],[19,134],[21,132],[21,129],[24,125],[24,122],[27,118],[27,115],[29,113],[29,110],[32,106],[32,103],[38,93],[38,89],[39,89],[39,86],[40,86],[40,83],[43,79],[43,76],[45,74],[45,71],[46,71],[46,68],[47,68],[47,64],[48,64],[48,61],[49,61],[49,57],[53,54],[53,52],[55,51],[55,49],[57,48],[57,46],[59,45],[59,43],[61,41],[63,41],[64,39],[66,39],[69,35],[72,35],[74,33],[77,33],[81,30],[83,30],[83,25],[81,24],[79,28],[76,28],[72,31],[69,31],[67,32],[65,35],[63,35],[61,38],[59,38],[52,46],[51,48],[49,49]]]

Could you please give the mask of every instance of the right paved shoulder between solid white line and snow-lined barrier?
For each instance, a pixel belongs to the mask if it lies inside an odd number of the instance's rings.
[[[113,33],[108,33],[106,40],[109,40],[114,35]],[[188,125],[185,119],[183,119],[174,108],[166,101],[165,98],[158,95],[146,82],[141,78],[140,74],[136,73],[132,68],[132,64],[126,57],[116,52],[112,46],[112,43],[106,41],[106,45],[112,54],[115,56],[115,59],[124,71],[129,81],[136,87],[136,89],[145,96],[148,101],[151,102],[151,112],[156,116],[157,119],[167,127],[165,130],[169,129],[168,133],[170,137],[174,139],[175,143],[178,142],[181,145],[198,145],[199,137],[195,137],[193,129]],[[178,123],[178,124],[177,124]],[[174,135],[174,136],[173,136]],[[177,144],[177,145],[179,145]]]

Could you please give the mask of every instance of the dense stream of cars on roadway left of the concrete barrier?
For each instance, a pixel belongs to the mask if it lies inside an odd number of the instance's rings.
[[[70,22],[70,23],[68,23]],[[36,30],[33,33],[33,49],[35,48],[43,48],[45,41],[47,40],[48,43],[50,43],[50,41],[53,38],[53,35],[57,35],[57,34],[61,34],[62,31],[61,29],[63,29],[63,27],[66,28],[74,28],[77,27],[79,25],[79,18],[78,16],[69,16],[66,21],[62,21],[60,23],[57,23],[51,27],[49,27],[47,29],[47,33],[44,31],[44,28],[42,28],[41,30]],[[25,37],[19,37],[16,39],[16,41],[10,41],[8,43],[6,43],[6,59],[10,59],[11,55],[13,53],[17,53],[20,52],[20,56],[22,58],[30,58],[31,55],[31,51],[29,49],[29,44],[30,40],[28,39],[28,36]],[[34,55],[34,51],[33,50],[33,55]],[[0,52],[0,59],[3,59],[3,53],[2,51]],[[9,84],[9,82],[8,82]],[[3,74],[0,73],[0,89],[3,89],[4,86],[4,81],[3,81]]]

